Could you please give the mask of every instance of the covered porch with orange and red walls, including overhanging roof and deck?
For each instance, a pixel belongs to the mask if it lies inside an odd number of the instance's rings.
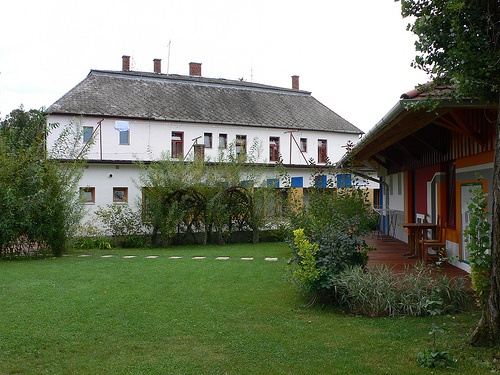
[[[436,226],[429,238],[437,239],[440,233],[439,242],[444,245],[440,248],[462,261],[453,262],[456,267],[446,265],[445,271],[466,274],[458,268],[470,270],[464,236],[470,221],[468,202],[473,191],[493,193],[497,135],[492,119],[498,108],[478,101],[447,100],[450,90],[431,84],[401,95],[338,163],[361,177],[367,176],[366,168],[377,173],[380,199],[373,204],[374,209],[380,208],[379,229],[404,241],[377,243],[379,250],[370,254],[371,264],[385,262],[402,270],[415,263],[402,255],[408,253],[405,242],[415,238],[410,225],[429,223]],[[429,95],[438,98],[432,111],[426,106]],[[444,230],[437,231],[439,227]],[[422,253],[431,254],[424,248]]]

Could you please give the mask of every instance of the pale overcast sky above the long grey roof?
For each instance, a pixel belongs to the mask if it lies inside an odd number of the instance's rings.
[[[2,0],[0,14],[0,118],[121,70],[122,55],[138,71],[160,58],[163,73],[199,62],[205,77],[281,87],[298,75],[365,132],[427,81],[394,0]]]

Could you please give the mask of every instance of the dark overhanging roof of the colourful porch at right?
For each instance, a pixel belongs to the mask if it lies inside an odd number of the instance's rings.
[[[443,93],[449,88],[442,87]],[[443,94],[444,95],[444,94]],[[491,148],[489,134],[479,134],[474,128],[487,122],[496,111],[496,104],[478,101],[438,99],[435,109],[415,107],[427,94],[419,89],[401,95],[396,105],[338,162],[340,167],[372,168],[379,175],[450,160],[451,134],[461,134],[478,143],[482,151]],[[464,120],[475,116],[474,121]],[[480,118],[482,116],[482,118]]]

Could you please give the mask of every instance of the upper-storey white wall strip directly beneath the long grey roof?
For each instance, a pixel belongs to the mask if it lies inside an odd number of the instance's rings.
[[[97,122],[102,120],[98,117],[81,117],[83,126],[97,127]],[[114,128],[115,121],[123,119],[106,118],[101,122],[100,134],[97,135],[94,145],[89,149],[88,158],[90,160],[151,160],[157,159],[162,152],[171,151],[172,132],[184,133],[184,154],[188,152],[193,139],[198,139],[198,143],[203,143],[204,133],[212,133],[213,147],[205,149],[205,158],[214,160],[218,153],[219,133],[227,134],[228,144],[234,142],[236,135],[247,136],[247,152],[253,144],[254,138],[262,141],[262,154],[260,162],[269,161],[269,138],[279,137],[280,153],[285,164],[306,165],[310,158],[316,162],[318,160],[318,139],[327,140],[327,155],[331,162],[337,162],[345,154],[345,145],[352,141],[356,143],[358,136],[348,133],[333,133],[301,130],[293,132],[293,137],[297,143],[300,138],[307,138],[307,152],[304,157],[298,150],[297,145],[291,139],[287,129],[263,128],[252,126],[235,125],[206,125],[196,123],[173,123],[168,121],[147,121],[128,120],[130,127],[130,144],[120,145],[120,132]],[[67,126],[69,119],[64,116],[50,116],[49,123],[58,122],[60,124],[48,138],[48,147],[53,144],[59,132]],[[192,157],[192,152],[187,156]],[[291,160],[290,160],[291,155]]]

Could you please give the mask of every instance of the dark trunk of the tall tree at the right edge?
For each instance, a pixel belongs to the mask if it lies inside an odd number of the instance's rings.
[[[496,123],[495,162],[493,166],[493,208],[491,216],[491,267],[488,303],[476,329],[469,337],[475,346],[500,344],[500,99]]]

